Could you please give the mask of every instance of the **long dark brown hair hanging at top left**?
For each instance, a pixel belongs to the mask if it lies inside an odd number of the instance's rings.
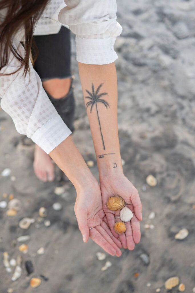
[[[29,71],[29,58],[33,45],[33,32],[38,18],[49,0],[0,0],[0,70],[8,64],[10,51],[21,62],[26,76]],[[4,11],[3,11],[4,10]],[[5,14],[5,16],[2,15]],[[12,44],[13,36],[25,30],[25,56],[22,57]],[[36,52],[36,48],[34,49]],[[34,52],[34,56],[36,55]]]

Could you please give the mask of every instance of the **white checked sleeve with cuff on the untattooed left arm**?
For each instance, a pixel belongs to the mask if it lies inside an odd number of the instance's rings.
[[[18,41],[15,40],[14,46],[17,52],[24,54],[24,48]],[[26,78],[23,69],[0,76],[1,108],[11,116],[19,133],[26,134],[49,154],[72,132],[49,100],[31,62],[29,66]],[[0,74],[10,74],[18,67],[20,62],[10,54],[9,63]]]

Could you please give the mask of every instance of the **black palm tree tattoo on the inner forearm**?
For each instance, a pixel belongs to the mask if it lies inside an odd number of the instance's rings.
[[[104,144],[104,140],[103,140],[103,134],[102,134],[102,131],[101,131],[101,124],[100,124],[100,120],[99,120],[99,113],[98,113],[97,103],[102,103],[106,107],[106,109],[108,107],[110,107],[110,105],[108,104],[108,102],[106,100],[101,99],[102,96],[108,96],[108,93],[99,93],[99,90],[102,87],[102,85],[103,85],[103,83],[100,84],[97,87],[96,92],[94,90],[93,83],[92,83],[92,93],[90,91],[85,90],[88,93],[88,95],[89,95],[89,96],[87,96],[85,98],[87,98],[87,99],[90,100],[89,102],[87,102],[87,104],[85,106],[86,106],[86,110],[87,110],[87,108],[89,106],[91,106],[90,113],[92,113],[93,106],[96,105],[96,111],[97,111],[97,117],[98,117],[98,124],[99,124],[100,134],[101,134],[101,140],[102,140],[102,144],[103,144],[103,149],[105,150],[105,144]]]

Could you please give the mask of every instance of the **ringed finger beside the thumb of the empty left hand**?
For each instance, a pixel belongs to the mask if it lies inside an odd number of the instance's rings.
[[[103,236],[99,233],[99,231],[96,230],[96,228],[90,230],[90,237],[107,253],[113,256],[116,254],[116,250],[113,248],[113,246],[110,243],[108,243],[108,241],[105,238],[103,238]]]

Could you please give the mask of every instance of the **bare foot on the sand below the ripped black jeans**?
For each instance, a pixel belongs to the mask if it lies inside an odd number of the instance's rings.
[[[54,164],[51,158],[46,154],[37,144],[34,148],[34,162],[33,162],[34,173],[43,182],[53,181]]]

